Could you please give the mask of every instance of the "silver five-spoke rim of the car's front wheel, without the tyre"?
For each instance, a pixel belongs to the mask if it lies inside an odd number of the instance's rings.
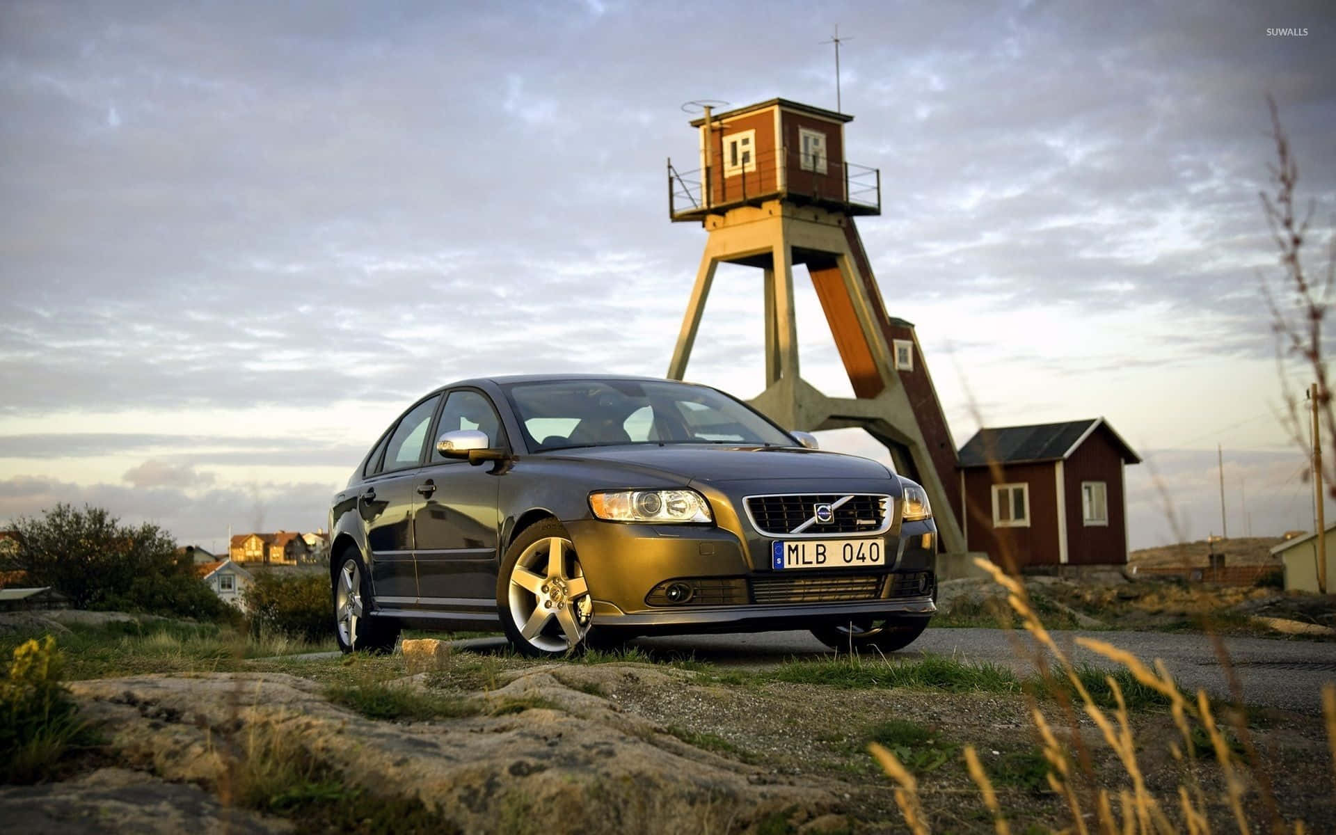
[[[570,540],[529,545],[510,570],[509,609],[516,629],[545,652],[569,652],[589,632],[593,601]]]

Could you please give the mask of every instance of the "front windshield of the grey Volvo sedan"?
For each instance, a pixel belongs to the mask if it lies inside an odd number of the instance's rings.
[[[635,379],[560,379],[505,386],[529,449],[621,444],[792,446],[747,406],[703,386]]]

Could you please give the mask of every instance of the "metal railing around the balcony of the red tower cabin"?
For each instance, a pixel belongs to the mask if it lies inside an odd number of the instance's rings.
[[[712,212],[776,198],[878,215],[882,172],[788,147],[758,154],[736,166],[717,160],[691,171],[679,171],[668,159],[668,216],[673,220],[699,220]]]

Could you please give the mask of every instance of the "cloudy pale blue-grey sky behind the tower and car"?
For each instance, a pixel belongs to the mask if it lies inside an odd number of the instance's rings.
[[[1102,415],[1145,458],[1133,548],[1221,532],[1217,445],[1230,536],[1311,530],[1259,192],[1269,95],[1320,274],[1325,0],[7,1],[0,521],[314,529],[433,387],[664,374],[705,244],[668,220],[665,159],[699,166],[683,104],[834,110],[836,24],[846,156],[882,182],[859,231],[957,446]],[[850,395],[795,286],[803,377]],[[760,273],[720,269],[687,377],[759,393],[762,315]]]

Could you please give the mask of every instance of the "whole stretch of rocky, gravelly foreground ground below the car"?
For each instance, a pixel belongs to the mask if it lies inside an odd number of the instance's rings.
[[[327,831],[322,820],[285,816],[273,796],[259,804],[263,814],[246,802],[257,784],[262,796],[277,787],[266,782],[295,762],[306,770],[298,794],[327,786],[319,791],[354,792],[359,804],[406,799],[413,814],[430,815],[430,826],[397,818],[370,826],[371,812],[354,814],[359,822],[347,831],[903,831],[892,784],[866,752],[875,740],[918,775],[937,831],[993,830],[962,763],[967,744],[979,751],[1013,831],[1067,820],[1047,788],[1031,701],[1018,689],[878,683],[907,661],[843,661],[808,677],[802,664],[767,675],[604,660],[464,652],[428,671],[398,655],[351,665],[257,660],[238,663],[251,668],[239,672],[72,681],[103,745],[63,782],[0,787],[0,818],[24,832]],[[334,697],[331,687],[347,681],[361,683],[359,700]],[[375,700],[386,693],[426,699],[436,715],[373,719],[386,713]],[[1039,704],[1065,747],[1089,763],[1093,784],[1128,784],[1089,719]],[[1320,788],[1331,784],[1320,723],[1268,712],[1241,728],[1256,749],[1244,776],[1257,820],[1265,820],[1264,780],[1284,774],[1275,787],[1281,816],[1303,818],[1311,831],[1336,827],[1331,792]],[[1132,729],[1152,791],[1172,799],[1185,771],[1168,749],[1177,733],[1168,715],[1134,712]],[[1216,798],[1212,816],[1228,824],[1218,770],[1205,763],[1192,774]]]

